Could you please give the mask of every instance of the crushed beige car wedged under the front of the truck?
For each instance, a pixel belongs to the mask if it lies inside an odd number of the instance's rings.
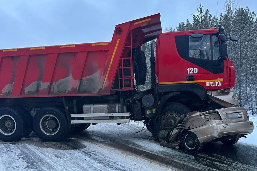
[[[228,107],[207,112],[190,112],[181,115],[171,128],[158,134],[160,145],[169,148],[184,146],[198,152],[204,144],[221,141],[233,145],[238,139],[253,132],[253,122],[243,107]]]

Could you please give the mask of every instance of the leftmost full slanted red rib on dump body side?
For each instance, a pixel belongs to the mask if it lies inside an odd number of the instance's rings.
[[[12,96],[18,96],[21,94],[21,89],[22,89],[25,73],[27,70],[28,61],[29,61],[29,55],[22,55],[19,57],[17,72],[13,83]]]

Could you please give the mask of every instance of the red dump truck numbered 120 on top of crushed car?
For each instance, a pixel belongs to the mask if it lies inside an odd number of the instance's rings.
[[[0,139],[34,130],[59,141],[90,124],[130,120],[158,133],[184,113],[236,106],[227,38],[221,25],[162,33],[155,14],[116,25],[111,42],[2,49]],[[140,92],[147,72],[141,46],[153,39],[151,88]]]

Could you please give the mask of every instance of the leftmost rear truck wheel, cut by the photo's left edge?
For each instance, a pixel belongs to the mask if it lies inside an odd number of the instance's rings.
[[[27,121],[19,110],[3,107],[0,109],[0,139],[5,142],[18,141],[27,131]]]

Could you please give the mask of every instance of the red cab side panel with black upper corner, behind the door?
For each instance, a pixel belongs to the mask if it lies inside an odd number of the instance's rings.
[[[172,40],[172,41],[171,41]],[[175,40],[175,41],[173,41]],[[160,85],[179,85],[179,89],[185,89],[186,83],[186,35],[176,35],[173,32],[163,33],[159,38],[158,82]],[[164,86],[165,87],[165,86]],[[167,88],[164,88],[167,91]],[[164,90],[163,90],[164,91]]]

